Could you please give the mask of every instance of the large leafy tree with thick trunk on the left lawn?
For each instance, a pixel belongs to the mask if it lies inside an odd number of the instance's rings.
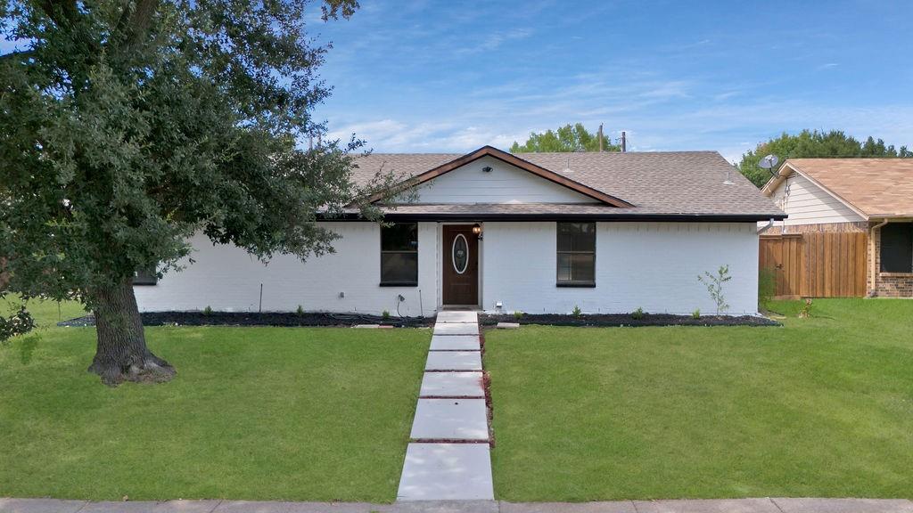
[[[377,189],[350,180],[359,141],[306,147],[330,89],[316,75],[328,47],[305,19],[357,6],[5,1],[16,50],[0,57],[0,295],[82,301],[98,331],[90,372],[163,381],[173,367],[146,347],[135,271],[174,270],[197,233],[264,260],[331,251],[315,213]],[[19,312],[0,336],[28,327]]]

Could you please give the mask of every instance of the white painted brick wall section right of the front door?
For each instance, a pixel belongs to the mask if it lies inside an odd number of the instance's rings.
[[[557,288],[555,223],[485,223],[483,308],[529,313],[716,311],[698,282],[728,264],[729,313],[756,313],[758,236],[753,223],[598,223],[596,287]]]

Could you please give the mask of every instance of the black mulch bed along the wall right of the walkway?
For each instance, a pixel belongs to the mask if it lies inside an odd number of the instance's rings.
[[[690,315],[672,315],[666,313],[645,313],[640,319],[635,319],[629,313],[584,314],[579,317],[559,314],[524,313],[519,319],[513,315],[480,314],[478,316],[478,322],[482,326],[494,326],[498,324],[498,322],[580,327],[782,326],[782,323],[777,322],[776,320],[753,315],[702,315],[698,319],[694,319]]]

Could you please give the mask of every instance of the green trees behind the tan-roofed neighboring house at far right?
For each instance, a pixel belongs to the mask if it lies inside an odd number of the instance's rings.
[[[758,162],[771,153],[780,157],[780,162],[786,159],[824,157],[913,157],[913,152],[906,146],[895,150],[893,145],[886,145],[885,141],[876,140],[871,136],[866,141],[857,141],[843,131],[803,130],[795,135],[783,132],[776,139],[759,143],[754,150],[742,155],[738,164],[739,171],[748,177],[751,183],[758,187],[763,186],[770,180],[771,173],[761,168]]]

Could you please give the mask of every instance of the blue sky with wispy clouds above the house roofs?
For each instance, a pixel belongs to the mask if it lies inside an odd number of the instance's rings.
[[[376,152],[507,148],[581,121],[729,160],[782,131],[913,146],[913,2],[362,0],[317,110]]]

